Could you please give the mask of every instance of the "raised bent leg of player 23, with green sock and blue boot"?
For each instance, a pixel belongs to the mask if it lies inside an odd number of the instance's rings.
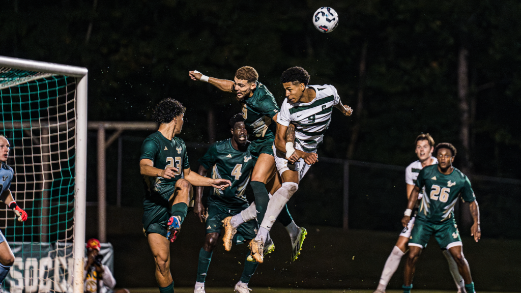
[[[187,216],[188,205],[193,196],[193,188],[186,179],[179,179],[176,182],[175,191],[170,197],[171,217],[168,220],[167,239],[173,242],[176,240],[184,217]]]

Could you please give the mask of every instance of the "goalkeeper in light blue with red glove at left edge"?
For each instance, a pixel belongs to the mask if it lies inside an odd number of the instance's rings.
[[[13,180],[13,168],[7,166],[7,157],[9,156],[9,141],[3,135],[0,135],[0,200],[13,209],[18,216],[18,221],[24,222],[27,220],[27,213],[24,212],[13,199],[13,194],[9,190],[11,181]],[[0,284],[4,282],[5,277],[9,273],[11,265],[15,262],[15,255],[5,240],[4,234],[0,231]]]

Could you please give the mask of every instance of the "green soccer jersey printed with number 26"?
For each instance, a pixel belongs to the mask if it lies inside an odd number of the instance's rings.
[[[454,205],[460,196],[465,202],[476,199],[467,176],[456,168],[444,175],[439,172],[438,165],[427,166],[418,174],[416,186],[420,190],[425,186],[417,217],[433,224],[454,217]]]

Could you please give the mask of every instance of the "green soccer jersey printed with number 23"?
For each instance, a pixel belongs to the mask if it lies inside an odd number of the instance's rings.
[[[163,177],[143,176],[145,185],[145,201],[168,203],[172,196],[177,180],[184,177],[183,170],[190,168],[188,163],[187,147],[184,141],[178,137],[167,139],[161,132],[156,131],[148,136],[141,145],[139,160],[147,158],[154,162],[154,167],[166,169],[177,168],[175,177],[166,179]]]

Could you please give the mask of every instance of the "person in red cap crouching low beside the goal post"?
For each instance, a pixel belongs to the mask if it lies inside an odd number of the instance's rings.
[[[87,241],[87,258],[83,274],[85,293],[130,293],[127,289],[116,289],[116,279],[108,266],[102,264],[100,240],[91,238]]]

